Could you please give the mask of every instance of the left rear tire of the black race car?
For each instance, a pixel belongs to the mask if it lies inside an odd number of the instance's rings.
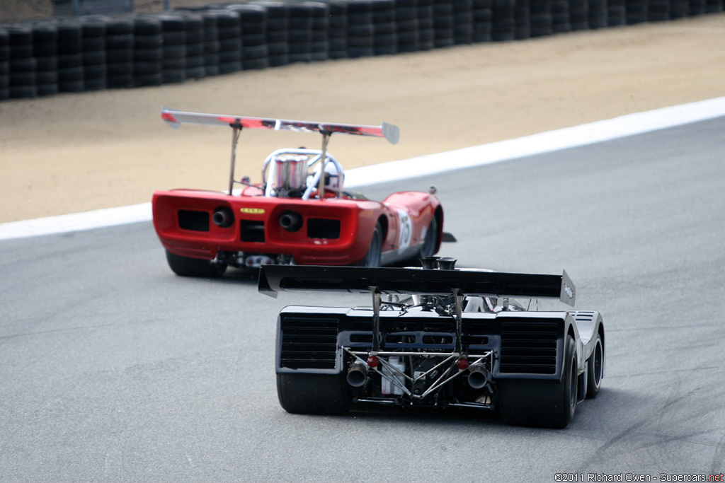
[[[342,374],[277,374],[280,406],[293,414],[341,415],[350,410]]]

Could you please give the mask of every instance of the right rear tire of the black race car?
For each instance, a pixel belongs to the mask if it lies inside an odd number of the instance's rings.
[[[576,346],[567,336],[560,381],[503,379],[499,383],[504,420],[513,426],[566,427],[576,409],[576,379]]]

